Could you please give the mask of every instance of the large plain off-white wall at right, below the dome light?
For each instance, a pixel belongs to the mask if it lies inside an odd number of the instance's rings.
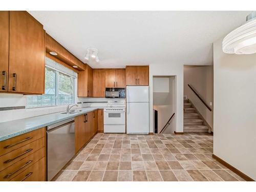
[[[256,180],[256,54],[214,43],[214,154]]]

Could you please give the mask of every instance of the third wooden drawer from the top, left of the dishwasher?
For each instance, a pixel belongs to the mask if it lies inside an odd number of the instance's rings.
[[[0,172],[0,181],[11,180],[43,157],[45,157],[45,147],[40,148],[40,150],[37,150],[35,153],[30,154],[29,156],[2,170],[2,172]]]

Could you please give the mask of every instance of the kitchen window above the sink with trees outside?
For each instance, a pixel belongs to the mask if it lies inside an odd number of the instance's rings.
[[[45,73],[45,94],[27,96],[27,108],[74,103],[77,73],[49,58]]]

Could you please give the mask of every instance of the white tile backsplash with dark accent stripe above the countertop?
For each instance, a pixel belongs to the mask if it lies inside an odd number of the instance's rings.
[[[76,103],[78,108],[106,106],[108,100],[108,98],[76,98]],[[0,122],[57,113],[67,109],[67,105],[26,109],[26,104],[26,95],[0,93]]]

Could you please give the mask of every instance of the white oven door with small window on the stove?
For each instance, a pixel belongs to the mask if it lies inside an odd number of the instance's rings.
[[[125,111],[104,110],[104,124],[125,124]]]

